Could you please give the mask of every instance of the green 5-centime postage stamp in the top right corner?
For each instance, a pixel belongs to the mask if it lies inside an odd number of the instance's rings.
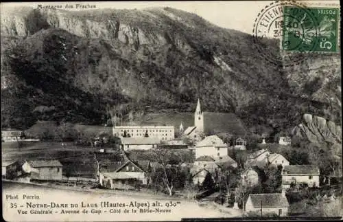
[[[285,5],[283,12],[283,50],[294,52],[340,51],[339,8],[300,8]]]

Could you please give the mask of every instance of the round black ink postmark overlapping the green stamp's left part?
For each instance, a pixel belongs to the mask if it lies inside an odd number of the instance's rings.
[[[275,1],[255,19],[253,47],[270,63],[289,66],[305,59],[318,45],[318,22],[314,14],[296,1]]]

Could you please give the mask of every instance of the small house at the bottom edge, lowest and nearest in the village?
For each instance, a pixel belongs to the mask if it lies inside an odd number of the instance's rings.
[[[289,203],[284,191],[282,193],[250,194],[245,206],[246,212],[255,212],[262,216],[276,214],[279,217],[287,217],[288,210]]]

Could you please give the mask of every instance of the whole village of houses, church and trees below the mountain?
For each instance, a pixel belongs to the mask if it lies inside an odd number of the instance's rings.
[[[341,179],[321,175],[320,167],[309,161],[295,161],[301,152],[292,148],[292,135],[283,133],[274,141],[261,137],[251,146],[244,126],[230,114],[202,111],[198,99],[193,126],[115,125],[111,133],[99,132],[91,148],[82,151],[73,150],[71,142],[56,142],[55,156],[25,154],[34,148],[2,149],[3,154],[23,152],[3,157],[2,178],[187,199],[234,210],[241,217],[329,217],[340,211]],[[233,124],[239,125],[230,132],[236,136],[223,137],[225,126]],[[1,131],[1,140],[3,146],[43,142],[14,130]]]

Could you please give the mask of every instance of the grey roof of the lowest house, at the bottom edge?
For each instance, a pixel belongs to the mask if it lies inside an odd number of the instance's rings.
[[[287,198],[281,193],[272,194],[250,194],[252,206],[254,208],[287,208],[289,203]],[[262,204],[262,206],[261,206]]]

